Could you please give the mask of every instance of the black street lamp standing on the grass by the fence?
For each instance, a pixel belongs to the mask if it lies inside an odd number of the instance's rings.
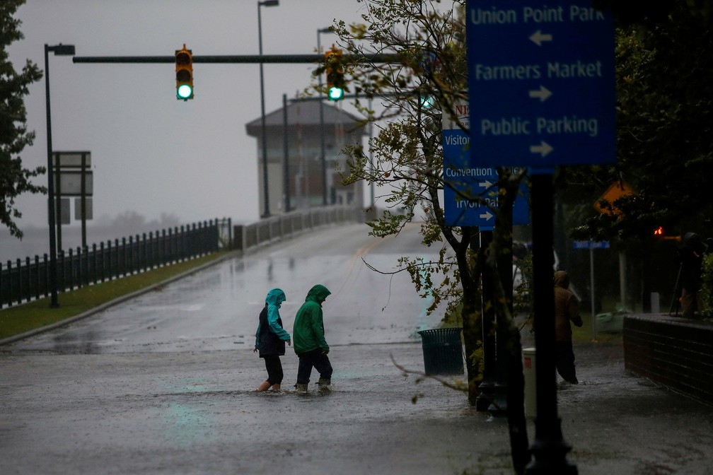
[[[74,45],[55,46],[45,44],[45,99],[47,110],[47,195],[49,213],[49,288],[51,308],[57,308],[57,238],[55,234],[56,216],[54,203],[54,173],[52,169],[52,120],[49,107],[49,52],[55,56],[74,56]]]

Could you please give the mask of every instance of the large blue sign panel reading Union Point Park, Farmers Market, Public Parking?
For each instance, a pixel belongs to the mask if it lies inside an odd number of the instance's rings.
[[[592,0],[468,0],[470,150],[483,167],[616,160],[614,26]]]

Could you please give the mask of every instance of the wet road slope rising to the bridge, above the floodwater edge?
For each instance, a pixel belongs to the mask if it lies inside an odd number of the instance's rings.
[[[228,259],[15,348],[53,353],[252,349],[267,291],[284,290],[287,301],[280,315],[292,331],[294,314],[316,283],[332,291],[323,306],[330,345],[416,341],[416,332],[434,328],[442,312],[426,316],[431,301],[419,298],[408,273],[376,273],[364,261],[391,272],[400,256],[429,256],[428,249],[421,246],[416,226],[391,239],[370,238],[368,231],[365,224],[332,226]]]

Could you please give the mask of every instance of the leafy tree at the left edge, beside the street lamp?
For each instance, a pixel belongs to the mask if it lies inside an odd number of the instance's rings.
[[[15,71],[9,61],[7,47],[24,38],[19,30],[21,22],[13,18],[24,0],[4,0],[0,3],[0,222],[10,229],[10,234],[22,239],[22,231],[15,219],[22,213],[15,199],[23,193],[46,193],[46,188],[31,183],[31,179],[46,169],[25,169],[20,152],[32,145],[34,132],[27,130],[27,113],[24,96],[28,86],[42,78],[42,71],[27,60],[22,72]]]

